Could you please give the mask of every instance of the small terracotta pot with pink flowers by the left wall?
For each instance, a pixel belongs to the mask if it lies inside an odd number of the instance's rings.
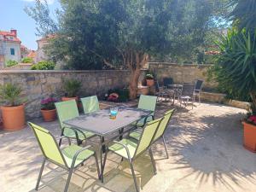
[[[57,100],[53,97],[48,97],[41,101],[41,113],[44,121],[54,121],[56,119],[55,102]]]

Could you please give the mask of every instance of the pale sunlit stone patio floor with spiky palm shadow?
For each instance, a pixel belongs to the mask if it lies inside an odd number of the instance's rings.
[[[157,107],[157,114],[172,108]],[[148,154],[135,161],[137,181],[147,192],[255,192],[256,155],[242,147],[240,119],[246,111],[218,104],[195,104],[177,108],[166,141],[169,159],[162,143],[154,144],[157,175]],[[31,120],[60,135],[58,122]],[[42,155],[29,128],[17,132],[0,131],[0,191],[34,191]],[[119,156],[108,154],[105,183],[96,177],[94,160],[87,161],[73,174],[69,191],[135,191],[129,165]],[[67,172],[47,163],[39,191],[61,192]]]

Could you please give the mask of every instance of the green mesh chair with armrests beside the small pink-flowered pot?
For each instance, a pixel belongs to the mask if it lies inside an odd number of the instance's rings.
[[[95,134],[90,131],[81,131],[63,123],[65,120],[79,117],[79,109],[75,100],[55,102],[55,107],[61,125],[61,136],[76,139],[78,144],[80,144],[81,141],[86,141],[86,139],[95,136]],[[61,146],[61,140],[59,145]]]

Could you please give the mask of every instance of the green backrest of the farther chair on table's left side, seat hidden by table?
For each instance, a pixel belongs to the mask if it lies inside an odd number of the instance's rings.
[[[81,98],[85,113],[93,113],[100,110],[100,104],[97,96],[88,96]]]

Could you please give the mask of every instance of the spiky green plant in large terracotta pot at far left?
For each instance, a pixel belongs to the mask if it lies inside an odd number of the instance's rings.
[[[3,130],[5,131],[17,131],[25,127],[25,104],[21,93],[22,89],[17,84],[0,85]]]

